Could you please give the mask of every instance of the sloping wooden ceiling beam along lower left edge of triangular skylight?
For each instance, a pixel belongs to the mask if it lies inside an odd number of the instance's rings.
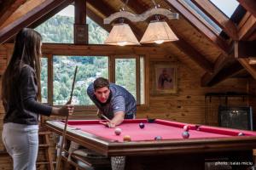
[[[224,32],[233,40],[237,40],[236,25],[225,16],[216,6],[206,0],[192,0],[198,8],[200,8],[209,18],[211,18]]]

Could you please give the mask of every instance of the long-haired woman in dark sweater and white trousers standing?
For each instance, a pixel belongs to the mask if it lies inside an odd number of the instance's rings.
[[[14,53],[2,82],[3,144],[12,156],[15,170],[35,170],[38,156],[38,117],[73,114],[73,105],[61,108],[42,105],[40,56],[42,37],[24,28],[16,36]],[[70,103],[70,102],[69,102]]]

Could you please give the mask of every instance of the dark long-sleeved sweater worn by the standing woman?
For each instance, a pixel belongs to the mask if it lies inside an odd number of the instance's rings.
[[[25,65],[20,71],[20,77],[11,89],[11,97],[4,106],[6,115],[3,122],[19,124],[38,124],[38,114],[49,116],[52,108],[37,102],[38,85],[35,71],[31,66]]]

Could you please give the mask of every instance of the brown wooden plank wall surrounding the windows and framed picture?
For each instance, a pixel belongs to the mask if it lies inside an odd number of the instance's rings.
[[[8,57],[11,54],[12,45],[0,45],[0,78],[3,74],[4,68],[7,65]],[[138,108],[137,118],[161,118],[166,120],[173,120],[177,122],[190,122],[205,124],[205,94],[207,93],[252,93],[255,94],[256,82],[253,79],[244,78],[230,78],[212,88],[201,88],[201,75],[196,74],[193,67],[183,62],[183,59],[167,54],[161,48],[114,48],[114,47],[100,47],[100,46],[71,46],[71,45],[45,45],[43,52],[46,54],[63,53],[67,54],[143,54],[146,63],[146,101],[148,105]],[[177,64],[177,94],[154,95],[152,84],[154,77],[154,64],[157,62],[175,62]],[[0,80],[1,82],[1,80]],[[1,88],[1,86],[0,86]],[[230,98],[230,105],[253,105],[255,99],[241,99]],[[217,110],[221,103],[219,99],[212,99],[212,111],[209,116],[209,123],[211,125],[218,125]],[[1,102],[2,104],[2,102]],[[96,110],[79,111],[80,118],[93,119],[96,118]],[[84,114],[86,112],[86,114]],[[255,111],[254,111],[255,112]],[[3,128],[3,106],[0,105],[0,131]],[[87,117],[86,117],[87,116]],[[76,118],[76,116],[73,116]],[[52,140],[54,141],[54,140]],[[54,153],[54,143],[53,153]],[[0,150],[3,150],[2,137],[0,137]],[[11,169],[11,160],[7,155],[0,154],[0,169]],[[42,169],[44,169],[42,167]]]

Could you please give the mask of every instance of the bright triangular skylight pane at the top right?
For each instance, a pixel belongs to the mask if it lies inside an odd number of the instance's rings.
[[[224,14],[229,18],[235,12],[239,3],[236,0],[210,0],[215,6],[217,6]]]

